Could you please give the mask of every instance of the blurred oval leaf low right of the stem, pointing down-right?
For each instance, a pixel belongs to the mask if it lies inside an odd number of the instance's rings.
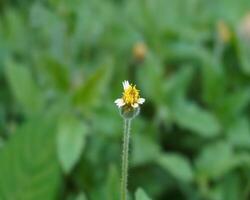
[[[158,159],[158,164],[176,179],[190,182],[193,179],[193,171],[188,160],[175,153],[163,154]]]

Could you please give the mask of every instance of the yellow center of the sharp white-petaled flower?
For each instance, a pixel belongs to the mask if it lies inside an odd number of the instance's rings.
[[[139,98],[139,90],[137,90],[135,86],[129,85],[129,87],[123,92],[122,99],[126,105],[132,106],[133,104],[137,103]]]

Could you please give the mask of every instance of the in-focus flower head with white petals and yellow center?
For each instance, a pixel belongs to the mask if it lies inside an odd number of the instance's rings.
[[[116,99],[115,104],[121,107],[128,107],[128,108],[138,108],[139,104],[143,104],[145,102],[144,98],[140,98],[139,90],[136,89],[136,86],[129,84],[128,81],[123,81],[123,96],[122,98]]]

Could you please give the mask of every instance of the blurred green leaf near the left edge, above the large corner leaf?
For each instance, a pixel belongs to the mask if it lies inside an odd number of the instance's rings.
[[[42,106],[42,98],[29,69],[9,61],[6,64],[5,72],[16,100],[27,112],[38,111]]]

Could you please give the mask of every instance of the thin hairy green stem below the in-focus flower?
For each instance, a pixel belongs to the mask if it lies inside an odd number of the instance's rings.
[[[128,153],[131,119],[124,119],[123,150],[122,150],[122,179],[121,179],[121,200],[127,200],[128,184]]]

